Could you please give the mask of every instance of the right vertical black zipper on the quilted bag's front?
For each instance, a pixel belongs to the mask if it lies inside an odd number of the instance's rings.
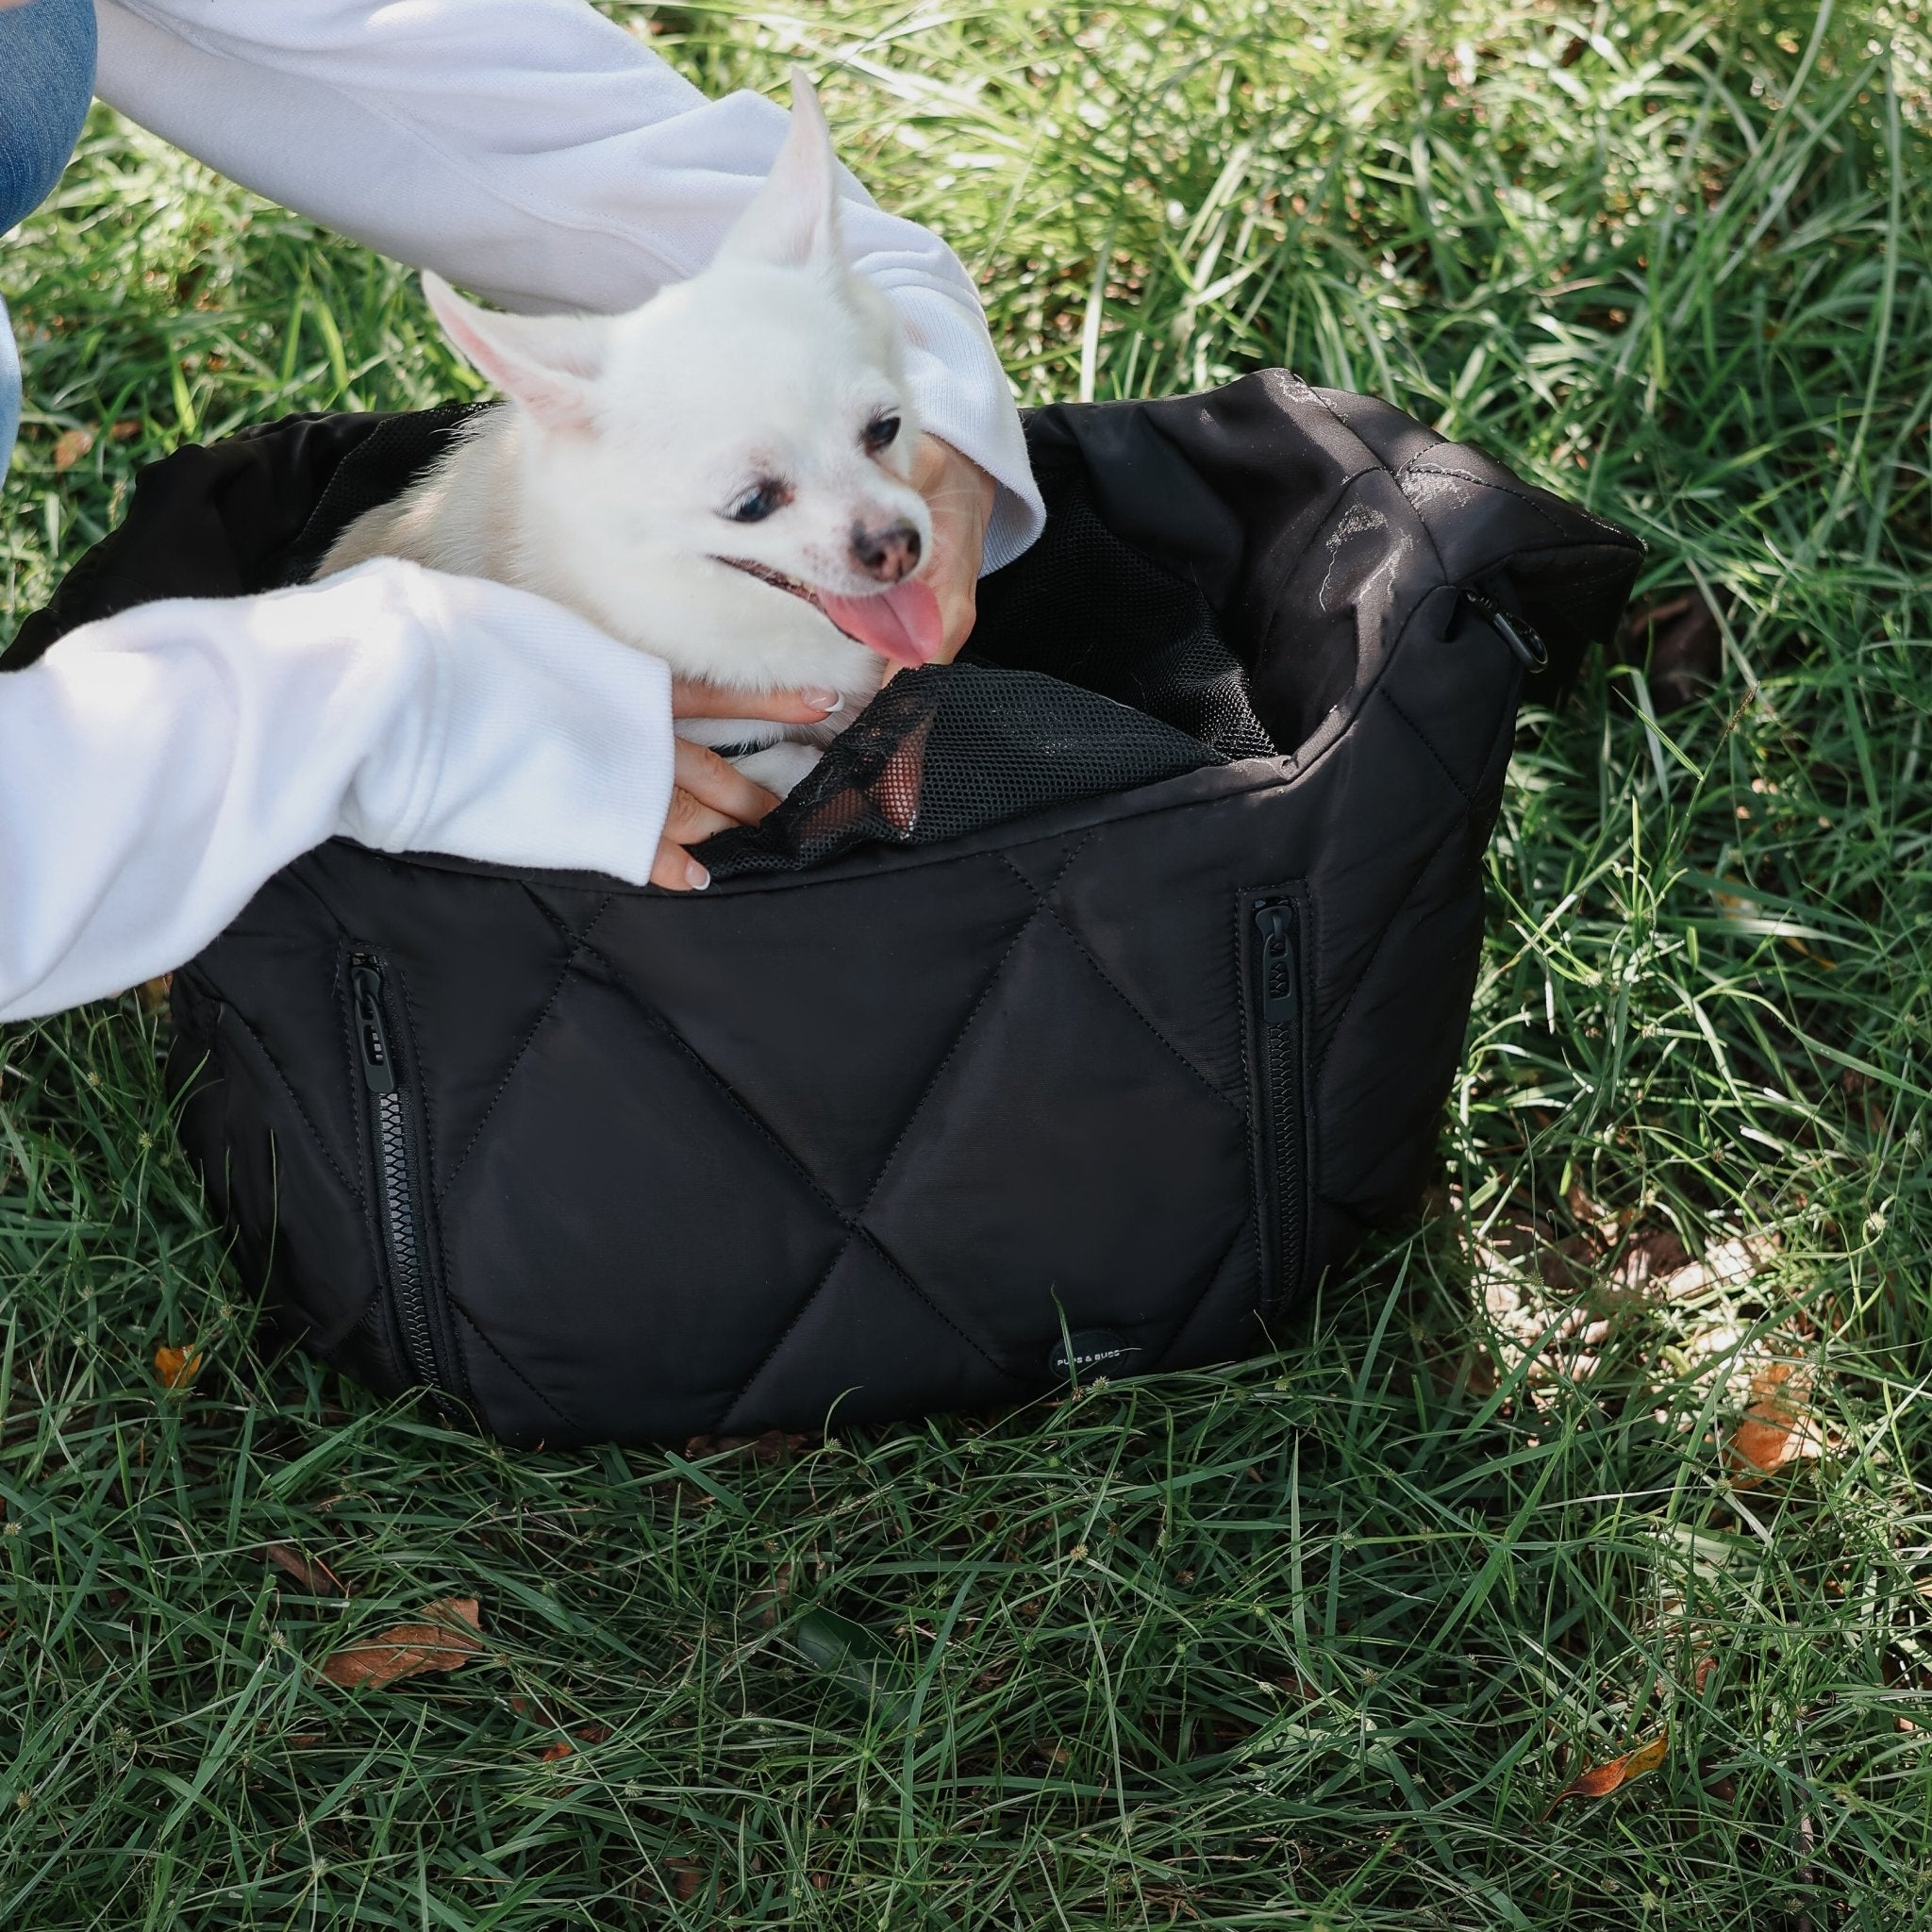
[[[1248,1066],[1254,1198],[1262,1217],[1262,1314],[1293,1302],[1308,1269],[1308,1099],[1302,908],[1287,889],[1246,895]]]

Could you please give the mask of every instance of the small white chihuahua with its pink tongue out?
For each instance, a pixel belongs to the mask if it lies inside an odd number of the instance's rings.
[[[937,655],[904,338],[846,267],[831,131],[802,71],[771,176],[690,282],[614,317],[495,315],[433,274],[423,290],[506,406],[357,518],[319,576],[406,556],[568,605],[678,676],[837,692],[823,724],[678,723],[761,748],[738,765],[781,796],[887,661]]]

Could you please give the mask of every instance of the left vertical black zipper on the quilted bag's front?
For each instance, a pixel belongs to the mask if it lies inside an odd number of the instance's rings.
[[[410,1090],[412,1068],[396,1053],[402,1032],[394,1024],[390,968],[375,952],[352,952],[348,985],[390,1314],[415,1381],[437,1395],[462,1393],[429,1238],[421,1111]]]

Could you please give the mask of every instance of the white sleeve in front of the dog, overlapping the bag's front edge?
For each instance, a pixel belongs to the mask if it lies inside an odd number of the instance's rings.
[[[670,676],[556,605],[379,558],[143,605],[0,674],[0,1020],[201,951],[336,833],[643,883]]]

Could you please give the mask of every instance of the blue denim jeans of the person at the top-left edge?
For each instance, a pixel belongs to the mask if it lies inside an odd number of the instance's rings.
[[[52,191],[95,95],[93,0],[0,8],[0,234]],[[19,431],[19,357],[0,298],[0,477]]]

